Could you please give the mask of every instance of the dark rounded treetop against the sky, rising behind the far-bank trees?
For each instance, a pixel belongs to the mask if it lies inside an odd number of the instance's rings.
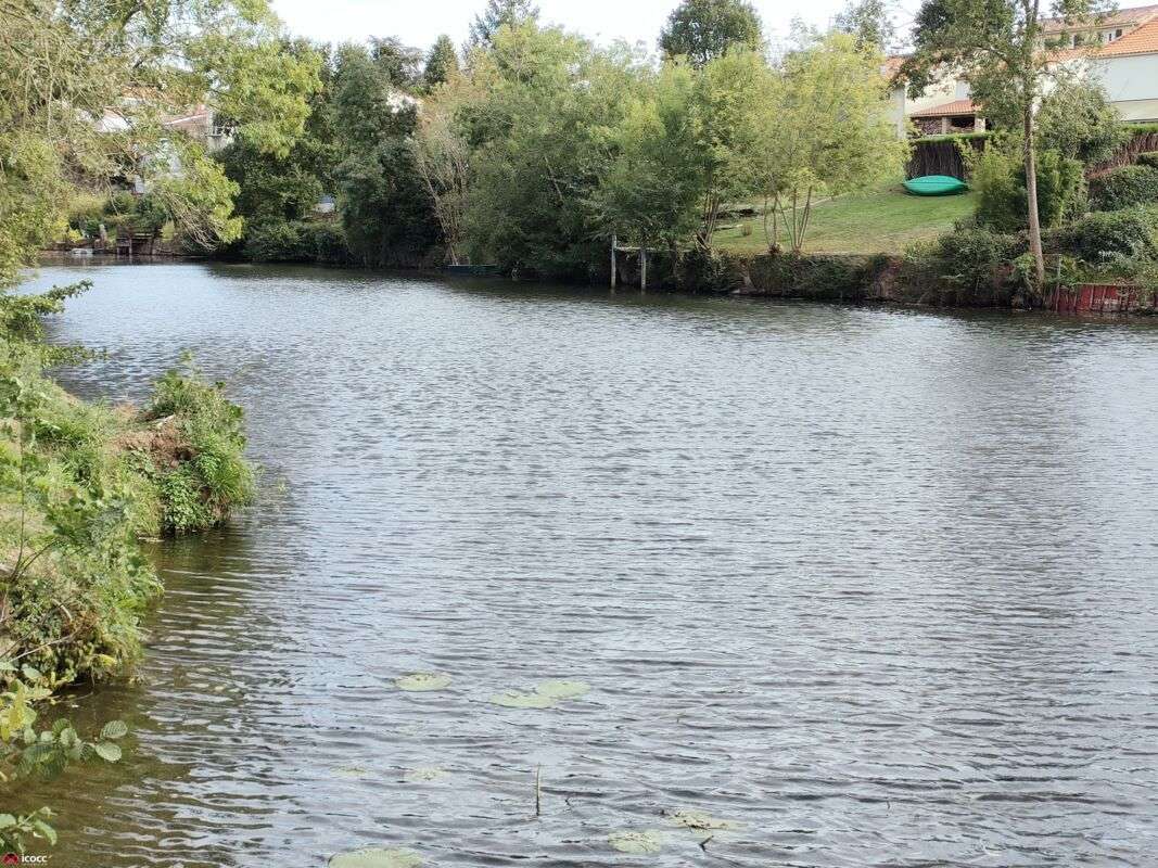
[[[697,67],[731,47],[758,51],[762,43],[760,16],[747,0],[683,0],[659,37],[665,54],[686,57]]]

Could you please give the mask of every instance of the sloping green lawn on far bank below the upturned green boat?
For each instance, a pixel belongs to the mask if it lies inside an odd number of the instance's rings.
[[[809,253],[901,253],[915,241],[951,231],[975,205],[974,193],[922,198],[909,196],[900,184],[842,196],[813,207],[804,249]],[[757,205],[757,211],[761,207]],[[752,226],[750,235],[745,236],[741,227],[733,225],[717,233],[716,243],[743,253],[767,251],[763,218],[746,222]]]

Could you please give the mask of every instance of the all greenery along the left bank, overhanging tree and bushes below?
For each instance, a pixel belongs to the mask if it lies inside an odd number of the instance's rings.
[[[142,540],[220,523],[252,495],[242,413],[185,369],[144,410],[78,400],[49,376],[83,362],[45,344],[41,321],[88,289],[17,295],[54,238],[105,225],[161,227],[212,250],[242,229],[237,186],[166,123],[212,101],[239,140],[288,153],[317,87],[309,58],[281,51],[263,2],[0,5],[0,795],[74,760],[116,762],[125,727],[85,741],[46,724],[56,691],[123,674],[160,590]],[[144,190],[134,197],[129,187]],[[126,229],[127,231],[127,229]],[[23,809],[27,808],[27,809]],[[0,810],[0,852],[54,840],[41,806]]]

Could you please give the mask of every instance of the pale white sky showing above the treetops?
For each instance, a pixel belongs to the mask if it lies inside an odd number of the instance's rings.
[[[485,0],[272,0],[273,8],[296,36],[322,42],[362,41],[396,36],[426,47],[440,34],[456,45],[467,39],[470,22]],[[677,0],[538,0],[542,20],[563,24],[600,43],[626,39],[655,46],[660,28]],[[824,27],[845,0],[754,0],[764,29],[775,38],[786,35],[794,17]],[[899,0],[900,23],[911,21],[917,0]],[[909,14],[904,9],[910,10]]]

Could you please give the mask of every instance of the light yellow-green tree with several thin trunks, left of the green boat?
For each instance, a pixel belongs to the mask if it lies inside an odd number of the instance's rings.
[[[770,249],[783,223],[792,251],[800,252],[819,198],[901,177],[908,145],[888,118],[882,62],[877,46],[841,32],[784,58],[762,103],[764,139],[754,160]]]

